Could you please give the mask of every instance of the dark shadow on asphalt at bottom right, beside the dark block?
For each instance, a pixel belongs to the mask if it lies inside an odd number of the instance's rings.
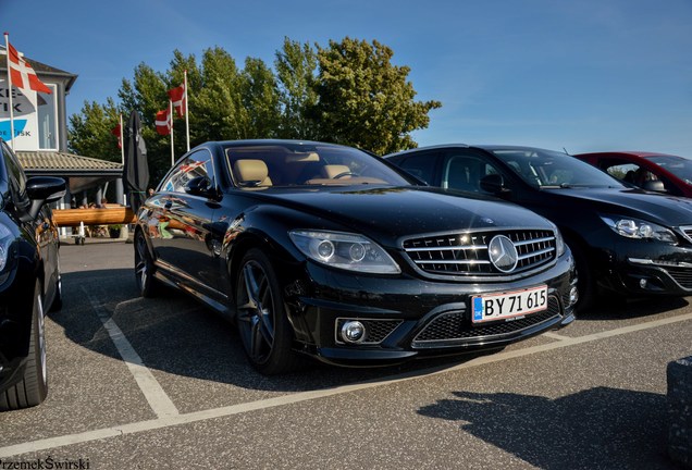
[[[419,415],[459,428],[535,468],[669,469],[666,397],[594,387],[557,399],[454,392]]]

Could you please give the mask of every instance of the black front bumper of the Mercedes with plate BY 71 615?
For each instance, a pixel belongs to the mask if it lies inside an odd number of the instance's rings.
[[[309,287],[286,289],[298,348],[339,366],[378,366],[419,357],[501,349],[574,320],[571,256],[539,274],[512,282],[461,283],[417,277],[355,276],[310,264]],[[471,322],[472,295],[548,286],[546,310],[481,325]],[[335,287],[338,286],[338,287]],[[349,344],[339,332],[357,320],[366,337]]]

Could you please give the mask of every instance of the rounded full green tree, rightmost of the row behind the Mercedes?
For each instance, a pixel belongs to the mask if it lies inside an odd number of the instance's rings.
[[[312,115],[320,122],[320,139],[387,153],[417,146],[410,133],[425,128],[428,113],[440,101],[415,101],[408,66],[392,64],[394,52],[372,41],[346,37],[318,46],[319,101]]]

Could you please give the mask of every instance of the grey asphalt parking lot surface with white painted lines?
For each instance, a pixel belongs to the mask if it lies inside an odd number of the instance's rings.
[[[265,378],[232,324],[140,298],[133,259],[63,244],[49,396],[0,413],[0,468],[677,468],[666,367],[692,355],[689,298],[601,305],[494,355]]]

